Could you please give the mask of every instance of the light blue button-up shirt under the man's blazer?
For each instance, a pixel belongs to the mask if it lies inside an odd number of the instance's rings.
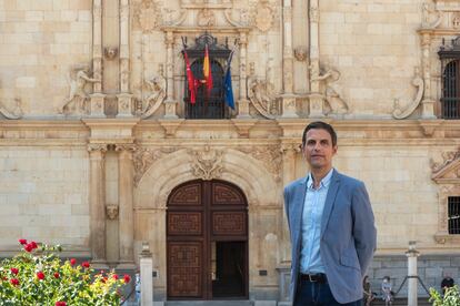
[[[319,188],[313,188],[313,177],[308,175],[306,202],[302,213],[302,245],[300,251],[300,273],[324,273],[320,254],[321,218],[324,210],[332,172],[321,180]]]

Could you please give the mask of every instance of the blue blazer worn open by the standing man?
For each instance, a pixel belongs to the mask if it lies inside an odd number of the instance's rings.
[[[284,187],[292,258],[291,298],[300,273],[302,212],[307,177]],[[333,170],[321,220],[320,255],[333,297],[341,304],[362,298],[362,277],[372,261],[377,231],[362,182]]]

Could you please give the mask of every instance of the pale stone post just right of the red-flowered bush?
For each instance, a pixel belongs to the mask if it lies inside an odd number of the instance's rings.
[[[153,305],[153,261],[149,244],[142,243],[142,252],[139,259],[140,282],[141,282],[141,306]]]

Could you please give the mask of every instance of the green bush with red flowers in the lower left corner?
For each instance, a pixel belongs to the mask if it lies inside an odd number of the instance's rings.
[[[130,276],[113,272],[94,275],[88,262],[62,262],[60,246],[19,241],[23,249],[0,263],[0,305],[120,305],[120,287]]]

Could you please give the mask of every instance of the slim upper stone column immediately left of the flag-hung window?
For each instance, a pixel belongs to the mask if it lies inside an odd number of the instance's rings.
[[[164,100],[164,118],[177,119],[177,101],[174,100],[174,34],[168,31],[164,37],[167,45],[166,79],[167,79],[167,98]]]

